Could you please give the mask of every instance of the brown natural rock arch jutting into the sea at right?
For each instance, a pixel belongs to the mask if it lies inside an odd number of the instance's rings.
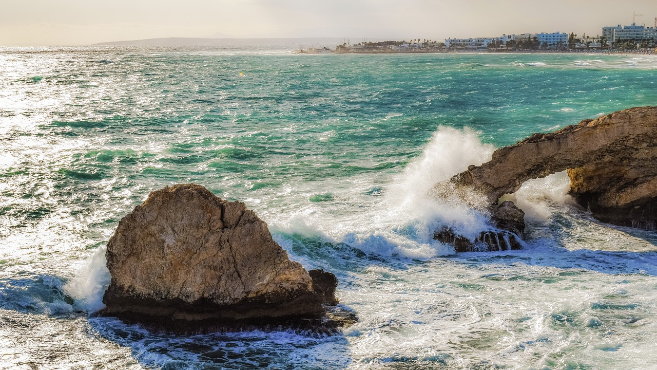
[[[484,194],[498,226],[498,199],[531,178],[568,170],[570,195],[606,223],[654,230],[657,219],[657,107],[637,107],[533,134],[470,166],[451,183]],[[514,206],[513,206],[514,207]],[[508,207],[512,209],[512,207]],[[508,212],[506,212],[508,213]]]

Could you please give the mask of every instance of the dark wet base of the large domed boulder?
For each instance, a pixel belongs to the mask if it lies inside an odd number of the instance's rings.
[[[116,288],[110,286],[104,296],[109,305],[97,314],[139,324],[152,332],[173,334],[289,329],[333,334],[355,323],[355,313],[338,306],[335,275],[323,269],[308,273],[313,279],[314,291],[279,304],[264,300],[216,305],[206,299],[189,304],[179,299],[136,298],[126,292],[114,292]],[[322,303],[318,305],[317,302]]]

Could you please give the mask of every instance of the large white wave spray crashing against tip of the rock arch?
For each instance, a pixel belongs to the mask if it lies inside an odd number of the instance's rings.
[[[336,188],[330,192],[351,192],[348,201],[336,198],[328,204],[306,203],[284,219],[278,215],[277,221],[270,223],[271,230],[320,236],[386,257],[428,259],[453,254],[453,246],[434,240],[435,230],[450,226],[474,239],[490,226],[484,212],[463,199],[456,195],[435,198],[432,191],[436,183],[464,171],[468,165],[489,160],[494,149],[493,145],[482,144],[473,130],[440,127],[422,154],[388,180],[383,196],[374,199],[353,194],[353,188],[357,188],[354,184],[350,190]],[[363,211],[353,211],[356,201],[363,202]]]

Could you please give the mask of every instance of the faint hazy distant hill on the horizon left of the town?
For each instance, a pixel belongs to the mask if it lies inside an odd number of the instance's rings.
[[[110,41],[94,45],[117,46],[230,46],[230,45],[338,45],[343,38],[156,38],[144,40]]]

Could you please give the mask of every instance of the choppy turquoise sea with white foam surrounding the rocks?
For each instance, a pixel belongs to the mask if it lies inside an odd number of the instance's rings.
[[[534,132],[657,105],[656,55],[0,48],[0,369],[657,369],[657,235],[565,173],[508,196],[522,250],[438,182]],[[586,143],[581,143],[586,145]],[[149,332],[99,317],[105,246],[149,192],[238,199],[359,321]]]

